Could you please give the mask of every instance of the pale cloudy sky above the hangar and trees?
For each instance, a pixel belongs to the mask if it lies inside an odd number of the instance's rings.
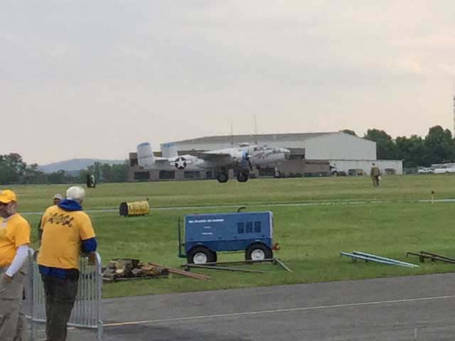
[[[453,0],[3,0],[0,154],[453,129]]]

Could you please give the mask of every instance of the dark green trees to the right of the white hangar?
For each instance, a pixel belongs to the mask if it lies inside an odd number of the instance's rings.
[[[343,130],[355,135],[355,131]],[[429,167],[435,163],[450,163],[455,161],[455,139],[449,129],[433,126],[427,136],[412,135],[392,136],[383,130],[368,129],[363,139],[376,142],[378,160],[403,160],[403,167]]]

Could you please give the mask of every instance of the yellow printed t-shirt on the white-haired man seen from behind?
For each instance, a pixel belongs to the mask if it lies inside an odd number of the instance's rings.
[[[58,269],[79,269],[82,240],[95,237],[90,217],[82,211],[49,207],[41,220],[43,238],[38,264]]]

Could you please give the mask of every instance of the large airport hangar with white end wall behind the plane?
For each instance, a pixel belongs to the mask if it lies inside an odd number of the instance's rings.
[[[291,159],[277,166],[282,177],[314,177],[328,176],[331,171],[356,175],[363,171],[369,174],[370,168],[376,163],[382,173],[398,174],[403,172],[401,160],[377,160],[376,143],[342,131],[325,133],[299,134],[259,134],[259,135],[228,135],[208,136],[198,139],[174,141],[161,144],[161,151],[155,156],[173,157],[191,154],[193,151],[212,151],[238,147],[240,144],[267,145],[273,148],[288,148]],[[273,177],[273,166],[254,169],[251,178]],[[230,178],[234,177],[231,170]],[[197,180],[215,178],[215,172],[201,171],[158,171],[146,170],[137,163],[137,153],[129,153],[129,181],[157,180]]]

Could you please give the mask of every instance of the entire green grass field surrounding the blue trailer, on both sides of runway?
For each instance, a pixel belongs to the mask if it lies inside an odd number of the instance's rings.
[[[254,265],[267,274],[240,274],[202,271],[210,281],[172,276],[156,280],[112,283],[104,287],[106,297],[183,291],[203,291],[248,286],[268,286],[315,281],[406,276],[454,271],[451,264],[424,264],[409,269],[381,264],[353,264],[340,259],[340,251],[365,251],[405,259],[407,251],[434,251],[455,256],[452,217],[455,203],[418,202],[455,197],[455,176],[390,176],[381,188],[370,179],[299,178],[251,180],[240,184],[215,181],[105,184],[88,190],[86,210],[117,208],[119,202],[149,197],[154,207],[191,209],[153,210],[148,217],[124,218],[117,212],[91,212],[97,231],[100,254],[105,262],[119,257],[139,258],[167,266],[179,266],[176,247],[176,222],[188,213],[232,212],[232,207],[210,205],[247,205],[248,210],[274,212],[274,242],[282,249],[276,256],[294,270],[278,266]],[[21,212],[41,212],[56,192],[65,186],[17,186]],[[380,200],[380,202],[371,202]],[[362,201],[362,203],[355,203]],[[333,205],[270,206],[277,203],[326,203]],[[353,205],[343,205],[351,202]],[[354,205],[355,203],[355,205]],[[33,227],[39,215],[26,215]],[[35,228],[33,228],[35,230]],[[36,231],[33,231],[36,239]],[[243,259],[243,254],[220,254],[220,261]],[[417,262],[417,259],[407,259]]]

